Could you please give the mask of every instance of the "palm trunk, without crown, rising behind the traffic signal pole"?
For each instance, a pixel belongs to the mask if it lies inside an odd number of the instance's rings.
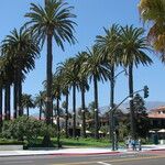
[[[111,66],[111,79],[110,79],[110,139],[112,142],[112,151],[114,151],[114,112],[112,109],[114,108],[114,66]]]

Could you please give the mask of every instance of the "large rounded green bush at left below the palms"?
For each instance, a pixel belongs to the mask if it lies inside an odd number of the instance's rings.
[[[44,136],[46,133],[55,136],[55,128],[34,118],[20,117],[3,123],[1,136],[19,141],[25,140],[29,144],[34,144],[38,136]]]

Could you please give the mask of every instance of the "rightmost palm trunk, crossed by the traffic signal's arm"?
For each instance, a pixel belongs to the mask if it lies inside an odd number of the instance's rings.
[[[135,140],[135,120],[133,110],[133,64],[129,66],[129,95],[130,95],[130,121],[131,121],[131,136]]]

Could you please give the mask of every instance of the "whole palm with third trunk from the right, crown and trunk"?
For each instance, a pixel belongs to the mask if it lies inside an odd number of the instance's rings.
[[[82,73],[87,74],[89,80],[94,80],[95,92],[95,138],[99,139],[99,117],[98,117],[98,81],[108,79],[108,70],[100,64],[98,59],[99,51],[97,46],[94,46],[91,51],[88,51],[87,62],[84,63]]]

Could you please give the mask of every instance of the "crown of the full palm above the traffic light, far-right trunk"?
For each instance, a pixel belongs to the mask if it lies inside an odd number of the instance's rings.
[[[139,64],[147,65],[152,63],[152,59],[145,53],[145,51],[151,51],[151,48],[143,33],[144,30],[141,28],[133,28],[133,25],[121,26],[119,33],[121,48],[120,61],[123,66],[128,67],[130,64],[135,66]]]

